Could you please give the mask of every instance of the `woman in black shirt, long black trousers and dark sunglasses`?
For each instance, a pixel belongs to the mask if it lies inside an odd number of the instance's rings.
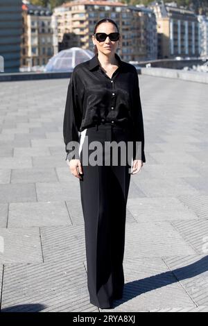
[[[63,125],[66,160],[80,181],[89,298],[101,309],[123,295],[130,175],[146,162],[137,70],[116,54],[119,41],[112,19],[96,24],[95,55],[73,69]]]

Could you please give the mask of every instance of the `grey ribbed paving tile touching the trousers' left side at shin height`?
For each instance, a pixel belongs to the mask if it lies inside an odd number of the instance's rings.
[[[40,232],[44,261],[71,259],[74,265],[85,261],[84,225],[42,227]]]

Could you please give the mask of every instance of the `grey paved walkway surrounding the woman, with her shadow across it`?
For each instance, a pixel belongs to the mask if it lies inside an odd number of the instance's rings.
[[[65,162],[68,82],[0,84],[1,311],[99,311],[79,183]],[[146,164],[130,183],[123,299],[107,311],[208,311],[207,85],[139,84]]]

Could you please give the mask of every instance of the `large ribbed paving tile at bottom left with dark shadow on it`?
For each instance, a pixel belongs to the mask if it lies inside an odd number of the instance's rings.
[[[83,264],[71,259],[42,264],[6,264],[1,312],[98,311],[89,302]]]

